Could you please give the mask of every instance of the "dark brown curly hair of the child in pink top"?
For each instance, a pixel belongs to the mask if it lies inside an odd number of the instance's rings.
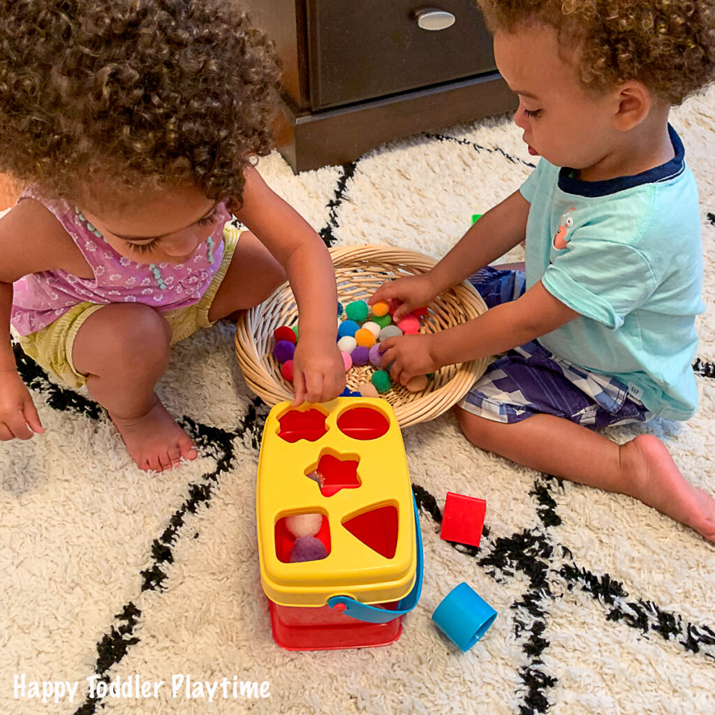
[[[277,77],[232,0],[0,0],[0,172],[56,197],[101,179],[240,204]]]

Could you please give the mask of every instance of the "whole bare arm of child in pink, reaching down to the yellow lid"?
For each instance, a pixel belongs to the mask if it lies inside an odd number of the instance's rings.
[[[243,205],[236,217],[285,268],[300,314],[295,362],[305,384],[294,379],[295,402],[337,397],[345,368],[335,342],[337,288],[325,244],[289,204],[275,194],[255,169],[246,172]],[[295,374],[295,363],[294,363]]]

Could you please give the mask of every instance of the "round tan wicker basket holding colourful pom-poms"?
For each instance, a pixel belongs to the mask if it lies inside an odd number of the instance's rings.
[[[424,273],[435,260],[414,251],[379,245],[331,248],[337,277],[337,297],[342,305],[352,300],[367,300],[385,281],[401,275]],[[471,320],[486,310],[473,287],[463,283],[440,293],[430,305],[420,332],[439,332]],[[236,330],[236,355],[247,385],[272,407],[292,400],[290,383],[280,373],[272,355],[273,331],[281,325],[297,323],[297,305],[290,286],[284,283],[261,305],[243,313]],[[468,392],[486,369],[487,359],[461,365],[448,365],[435,373],[427,388],[410,393],[395,385],[383,395],[395,410],[400,427],[432,420],[448,410]],[[351,368],[347,386],[355,390],[370,380],[375,368]]]

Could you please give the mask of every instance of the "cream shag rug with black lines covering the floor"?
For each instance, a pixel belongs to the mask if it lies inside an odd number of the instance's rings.
[[[711,492],[713,107],[710,92],[673,118],[701,192],[708,309],[699,319],[700,408],[688,423],[646,427]],[[440,257],[473,213],[526,178],[531,158],[520,134],[498,117],[393,142],[347,167],[295,177],[273,154],[260,170],[327,242]],[[0,712],[715,713],[715,547],[631,498],[476,450],[450,414],[404,433],[422,506],[425,582],[403,635],[385,648],[280,649],[255,534],[267,410],[245,387],[232,332],[218,325],[174,352],[159,392],[201,455],[162,475],[134,466],[86,395],[21,361],[46,434],[0,445]],[[624,441],[636,432],[608,435]],[[440,540],[448,490],[487,501],[478,550]],[[430,622],[460,581],[499,612],[467,654]],[[99,681],[111,687],[92,696]]]

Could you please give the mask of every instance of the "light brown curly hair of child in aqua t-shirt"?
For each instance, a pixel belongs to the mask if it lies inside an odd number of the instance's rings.
[[[478,0],[491,31],[553,27],[587,89],[642,82],[669,104],[715,79],[715,0]]]

